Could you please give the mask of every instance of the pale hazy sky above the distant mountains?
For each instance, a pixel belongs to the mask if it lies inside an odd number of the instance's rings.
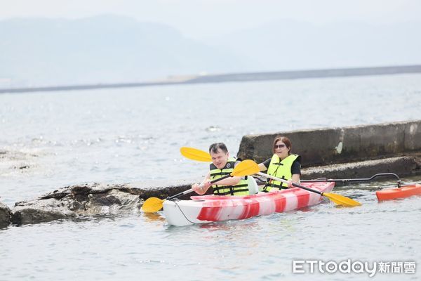
[[[112,13],[208,37],[276,20],[387,24],[419,20],[420,0],[0,0],[0,19]]]

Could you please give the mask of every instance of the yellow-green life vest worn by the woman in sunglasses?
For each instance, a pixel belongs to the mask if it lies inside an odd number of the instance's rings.
[[[283,178],[286,181],[290,180],[293,178],[293,175],[291,174],[291,166],[293,166],[294,161],[298,159],[298,157],[300,157],[300,155],[291,154],[280,161],[281,159],[278,155],[274,154],[270,160],[267,174],[270,176],[276,176],[276,178]],[[267,178],[265,187],[262,191],[269,192],[272,188],[286,189],[288,188],[288,185],[286,183],[282,183],[281,181],[274,181]]]

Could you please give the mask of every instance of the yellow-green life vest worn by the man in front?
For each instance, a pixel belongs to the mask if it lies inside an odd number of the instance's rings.
[[[213,181],[222,176],[231,174],[234,171],[236,159],[229,157],[227,164],[222,169],[218,169],[213,163],[210,164],[210,180]],[[248,195],[248,182],[241,179],[236,185],[212,185],[214,195]]]

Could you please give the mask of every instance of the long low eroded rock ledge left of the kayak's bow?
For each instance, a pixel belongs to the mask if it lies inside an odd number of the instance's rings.
[[[18,225],[62,218],[109,214],[136,214],[148,197],[165,198],[190,188],[190,183],[151,188],[148,183],[72,185],[54,190],[36,200],[15,203],[12,222]]]

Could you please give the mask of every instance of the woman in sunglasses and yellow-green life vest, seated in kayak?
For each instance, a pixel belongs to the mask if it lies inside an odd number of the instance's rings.
[[[259,164],[260,171],[288,180],[288,185],[281,181],[267,178],[263,192],[272,192],[279,189],[291,188],[292,183],[300,183],[301,164],[300,155],[291,154],[291,141],[285,136],[276,137],[272,151],[274,155],[265,162]]]

